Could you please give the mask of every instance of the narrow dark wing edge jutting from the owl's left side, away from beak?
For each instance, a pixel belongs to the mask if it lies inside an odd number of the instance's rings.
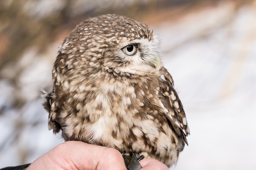
[[[44,99],[43,102],[43,107],[47,112],[49,112],[49,117],[48,117],[48,129],[52,130],[54,134],[58,133],[61,129],[60,124],[56,121],[56,112],[54,111],[54,101],[53,101],[53,91],[50,93],[47,93],[45,90],[41,90],[41,97]]]

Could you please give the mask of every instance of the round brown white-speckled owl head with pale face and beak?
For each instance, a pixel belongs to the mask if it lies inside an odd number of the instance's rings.
[[[56,61],[53,73],[72,76],[99,70],[147,75],[161,67],[159,41],[153,31],[146,24],[116,14],[89,18],[77,25],[64,40]]]

